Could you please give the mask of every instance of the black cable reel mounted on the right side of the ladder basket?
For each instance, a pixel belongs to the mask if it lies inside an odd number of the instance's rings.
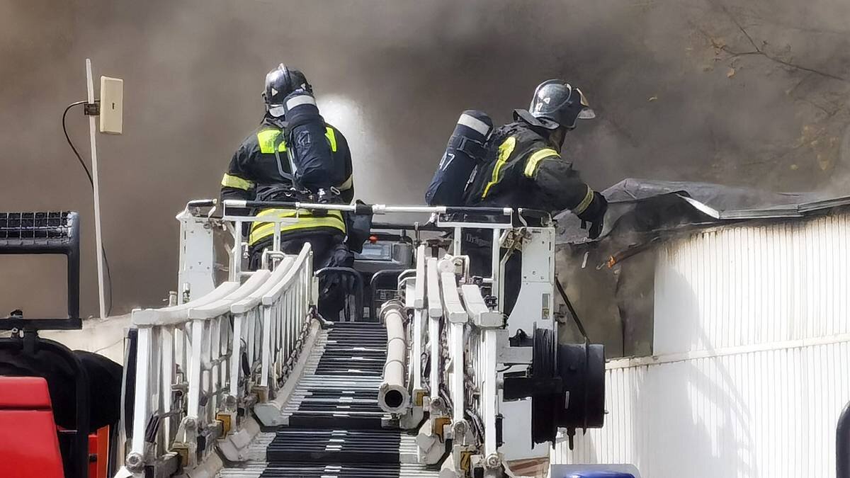
[[[531,398],[531,441],[555,443],[567,429],[602,428],[605,416],[604,345],[558,344],[553,330],[536,328],[528,372],[505,373],[504,400]]]

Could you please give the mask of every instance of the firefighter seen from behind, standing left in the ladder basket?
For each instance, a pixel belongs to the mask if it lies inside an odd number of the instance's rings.
[[[331,191],[319,191],[319,196],[304,191],[296,184],[292,157],[295,151],[286,140],[286,100],[292,95],[310,100],[313,88],[301,71],[279,65],[265,78],[263,100],[266,112],[263,121],[242,141],[230,160],[221,180],[221,197],[257,201],[351,202],[354,198],[351,151],[345,136],[330,124],[325,125],[325,139],[330,146],[329,158],[340,178]],[[298,100],[303,103],[303,100]],[[289,103],[292,105],[292,103]],[[320,117],[318,117],[320,119]],[[322,120],[320,120],[322,121]],[[300,141],[301,137],[296,141]],[[299,143],[301,145],[301,143]],[[295,150],[298,149],[296,145]],[[344,169],[344,170],[341,170]],[[243,210],[248,214],[252,211]],[[351,267],[354,255],[345,245],[346,223],[338,211],[326,213],[306,210],[269,208],[253,211],[259,217],[297,218],[294,224],[280,225],[280,248],[285,253],[297,253],[304,242],[310,242],[314,253],[314,268],[326,266]],[[270,248],[275,233],[273,223],[255,222],[248,230],[249,268],[261,264],[263,250]],[[320,314],[336,320],[345,303],[346,284],[350,278],[340,275],[324,276],[320,283]]]

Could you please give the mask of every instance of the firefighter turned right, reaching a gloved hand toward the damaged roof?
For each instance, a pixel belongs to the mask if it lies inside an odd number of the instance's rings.
[[[596,239],[602,232],[608,202],[584,183],[572,163],[561,157],[566,134],[580,119],[596,115],[579,88],[564,80],[547,80],[535,90],[529,110],[515,110],[513,122],[496,128],[485,144],[484,161],[467,185],[467,206],[530,208],[559,213],[570,209]],[[490,275],[489,231],[466,230],[463,248],[473,258],[473,274]],[[519,295],[520,258],[505,269],[507,314]]]

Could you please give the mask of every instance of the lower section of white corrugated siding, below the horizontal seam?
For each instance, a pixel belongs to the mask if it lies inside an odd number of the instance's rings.
[[[605,426],[555,463],[636,464],[643,478],[835,475],[850,344],[609,370]]]

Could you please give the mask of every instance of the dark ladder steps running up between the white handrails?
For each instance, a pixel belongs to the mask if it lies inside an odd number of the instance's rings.
[[[256,461],[220,478],[437,477],[438,470],[411,463],[413,436],[383,428],[389,416],[377,395],[386,348],[386,330],[376,322],[336,322],[323,331],[281,412],[288,426],[261,434]]]

